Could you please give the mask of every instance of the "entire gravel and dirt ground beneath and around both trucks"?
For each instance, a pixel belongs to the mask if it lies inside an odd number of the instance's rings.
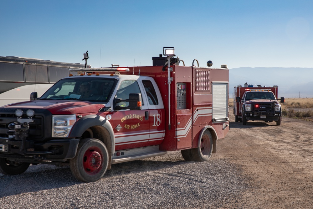
[[[180,152],[115,164],[96,182],[69,167],[0,174],[0,208],[313,208],[313,123],[235,123],[207,162]]]

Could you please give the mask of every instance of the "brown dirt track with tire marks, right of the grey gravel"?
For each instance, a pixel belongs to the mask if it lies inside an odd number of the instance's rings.
[[[251,188],[229,208],[313,208],[313,122],[230,122],[214,158],[238,165]]]

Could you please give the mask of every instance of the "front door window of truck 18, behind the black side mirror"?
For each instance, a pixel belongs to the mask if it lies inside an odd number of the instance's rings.
[[[141,93],[137,81],[122,81],[119,89],[116,92],[115,98],[128,99],[130,93]],[[127,107],[129,106],[129,102],[119,102],[116,105]]]

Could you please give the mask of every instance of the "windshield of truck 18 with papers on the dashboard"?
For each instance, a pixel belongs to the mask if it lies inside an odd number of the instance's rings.
[[[66,78],[54,84],[39,100],[63,99],[108,102],[116,82],[116,79],[111,78]]]

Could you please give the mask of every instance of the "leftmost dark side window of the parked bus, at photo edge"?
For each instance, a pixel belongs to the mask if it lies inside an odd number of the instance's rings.
[[[24,81],[23,64],[0,62],[2,81]]]

